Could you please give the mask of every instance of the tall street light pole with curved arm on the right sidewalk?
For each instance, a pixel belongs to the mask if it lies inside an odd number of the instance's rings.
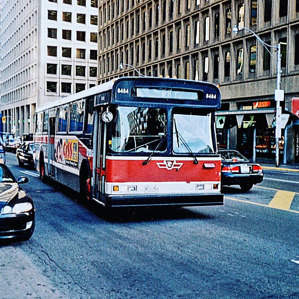
[[[238,33],[239,30],[247,30],[251,32],[257,40],[266,48],[266,50],[269,52],[270,56],[275,60],[274,56],[269,51],[269,48],[277,49],[277,59],[276,59],[276,66],[277,66],[277,81],[276,81],[276,90],[275,90],[275,101],[276,101],[276,127],[275,127],[275,166],[279,166],[279,138],[281,138],[281,107],[280,107],[280,101],[283,101],[284,98],[284,92],[283,90],[280,90],[280,77],[281,77],[281,53],[280,53],[280,43],[277,44],[277,46],[272,46],[266,44],[254,31],[245,28],[245,27],[238,27],[235,25],[233,28],[233,32],[235,34]],[[255,136],[254,136],[255,138]]]

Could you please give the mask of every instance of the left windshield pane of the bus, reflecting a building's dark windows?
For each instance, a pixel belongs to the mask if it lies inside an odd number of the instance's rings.
[[[153,152],[166,135],[166,110],[148,107],[116,107],[109,146],[116,152]],[[166,150],[166,140],[159,152]]]

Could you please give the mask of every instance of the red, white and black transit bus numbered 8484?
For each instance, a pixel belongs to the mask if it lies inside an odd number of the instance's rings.
[[[122,77],[36,109],[36,168],[105,207],[222,205],[219,89]]]

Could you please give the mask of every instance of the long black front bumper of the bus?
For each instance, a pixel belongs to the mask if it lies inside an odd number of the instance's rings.
[[[106,195],[106,206],[216,206],[223,205],[222,193]]]

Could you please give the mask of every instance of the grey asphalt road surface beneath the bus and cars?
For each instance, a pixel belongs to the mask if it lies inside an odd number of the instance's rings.
[[[2,298],[18,298],[19,283],[29,290],[22,298],[299,297],[299,173],[265,171],[263,183],[247,193],[227,187],[223,206],[106,217],[67,188],[40,182],[12,154],[7,165],[30,180],[24,189],[36,205],[36,230],[26,242],[0,247],[8,257],[22,256],[11,258],[20,273],[27,269],[10,285],[2,282]],[[0,277],[12,276],[1,263]],[[50,293],[41,293],[40,280]]]

